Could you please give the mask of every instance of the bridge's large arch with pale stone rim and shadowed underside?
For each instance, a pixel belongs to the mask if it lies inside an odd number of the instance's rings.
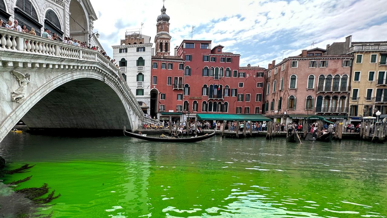
[[[106,75],[72,71],[27,93],[0,125],[0,141],[20,119],[31,128],[120,130],[124,125],[135,128],[135,116],[119,87]]]

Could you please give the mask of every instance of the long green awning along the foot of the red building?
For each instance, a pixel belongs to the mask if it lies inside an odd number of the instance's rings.
[[[271,121],[261,114],[196,114],[199,120],[246,120],[246,121]]]

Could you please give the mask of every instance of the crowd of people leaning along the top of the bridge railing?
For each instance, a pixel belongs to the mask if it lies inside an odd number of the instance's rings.
[[[23,25],[19,25],[19,22],[16,19],[14,20],[14,22],[9,20],[7,23],[5,23],[3,21],[3,19],[0,19],[0,27],[6,28],[6,29],[15,30],[15,31],[22,32],[22,33],[29,33],[31,35],[35,35],[36,36],[36,32],[35,32],[34,28],[31,28],[31,30],[28,30],[26,25],[24,25],[24,24]],[[47,28],[44,29],[44,32],[42,33],[41,37],[48,38],[50,40],[55,40],[55,41],[58,41],[58,42],[67,43],[67,44],[74,45],[74,46],[79,46],[79,47],[83,47],[83,48],[89,48],[89,49],[97,50],[97,51],[99,50],[99,52],[101,52],[101,54],[104,55],[106,57],[106,59],[108,59],[111,63],[113,63],[118,68],[118,64],[116,63],[116,60],[115,59],[111,59],[109,57],[109,55],[107,55],[104,50],[100,50],[99,47],[96,46],[96,45],[92,46],[90,43],[87,45],[87,42],[80,42],[80,40],[77,40],[76,38],[70,38],[68,36],[65,36],[64,38],[61,38],[56,33],[53,33],[51,35],[51,30],[47,29]],[[27,43],[27,41],[26,41],[26,43]]]

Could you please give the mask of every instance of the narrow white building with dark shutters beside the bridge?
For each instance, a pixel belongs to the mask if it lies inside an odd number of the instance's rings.
[[[147,114],[150,114],[151,104],[152,45],[150,36],[141,35],[140,31],[127,31],[120,45],[112,46],[113,59],[119,63],[130,90]]]

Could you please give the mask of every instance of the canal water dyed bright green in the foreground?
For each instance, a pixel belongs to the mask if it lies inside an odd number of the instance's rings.
[[[355,140],[213,137],[192,144],[10,133],[0,156],[35,164],[21,184],[62,196],[54,218],[386,217],[387,147]]]

